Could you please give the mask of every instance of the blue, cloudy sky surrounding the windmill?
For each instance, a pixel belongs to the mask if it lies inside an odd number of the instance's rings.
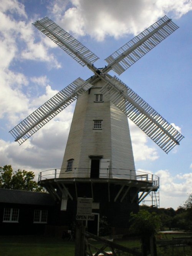
[[[160,177],[160,207],[182,206],[192,193],[190,0],[0,0],[0,166],[36,178],[61,168],[75,102],[22,145],[9,131],[76,78],[93,74],[31,23],[49,17],[100,58],[99,68],[164,15],[179,29],[119,78],[185,136],[167,155],[129,121],[136,170]]]

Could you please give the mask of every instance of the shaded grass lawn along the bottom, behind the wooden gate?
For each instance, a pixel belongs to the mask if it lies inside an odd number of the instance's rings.
[[[168,239],[172,239],[172,236],[169,235]],[[115,241],[115,243],[128,248],[141,248],[139,240],[122,239]],[[96,241],[91,241],[91,244],[97,248],[102,247],[102,244]],[[49,236],[0,236],[0,256],[74,256],[74,250],[74,241],[64,241],[61,238]],[[158,256],[192,256],[192,248],[187,246],[184,250],[182,247],[160,248],[157,246],[157,253]]]

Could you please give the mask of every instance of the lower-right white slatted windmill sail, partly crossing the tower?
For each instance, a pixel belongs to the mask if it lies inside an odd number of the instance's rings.
[[[179,141],[184,138],[179,131],[116,76],[106,83],[101,89],[101,93],[110,98],[114,105],[166,153],[175,145],[179,145]]]

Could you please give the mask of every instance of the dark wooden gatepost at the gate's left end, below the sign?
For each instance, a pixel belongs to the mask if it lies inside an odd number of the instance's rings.
[[[83,221],[76,221],[75,252],[74,256],[85,256],[85,227]]]

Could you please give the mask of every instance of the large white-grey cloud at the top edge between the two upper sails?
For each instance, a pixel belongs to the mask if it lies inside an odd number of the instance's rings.
[[[137,35],[159,18],[170,13],[179,18],[192,10],[192,3],[185,0],[58,0],[49,10],[61,27],[76,35],[90,35],[98,41],[106,36]]]

